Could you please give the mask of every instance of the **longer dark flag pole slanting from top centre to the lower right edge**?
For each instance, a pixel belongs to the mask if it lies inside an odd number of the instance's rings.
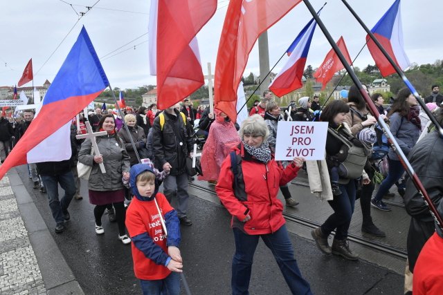
[[[342,0],[344,1],[344,0]],[[374,117],[377,118],[377,121],[379,122],[380,126],[382,127],[386,137],[388,137],[388,141],[394,149],[395,153],[399,156],[399,160],[401,164],[404,166],[406,172],[410,176],[411,180],[413,180],[413,183],[415,184],[415,187],[418,191],[421,192],[422,197],[424,198],[424,202],[426,205],[428,205],[429,211],[431,212],[431,216],[433,216],[435,222],[437,222],[437,225],[442,229],[443,231],[443,222],[441,216],[438,214],[437,209],[435,209],[435,206],[433,202],[431,201],[431,198],[429,198],[428,193],[426,192],[426,189],[424,189],[422,182],[420,182],[417,174],[415,173],[413,167],[408,162],[408,159],[406,158],[406,155],[404,155],[403,151],[401,151],[401,148],[397,141],[395,140],[394,136],[390,132],[390,129],[388,125],[385,123],[383,118],[380,116],[379,112],[377,111],[377,108],[374,105],[374,102],[372,102],[372,99],[370,99],[368,93],[363,89],[363,86],[361,85],[361,82],[359,81],[359,78],[355,75],[354,71],[352,70],[351,66],[347,64],[347,61],[345,57],[343,56],[343,53],[341,53],[341,50],[338,48],[337,44],[335,43],[334,39],[332,39],[331,35],[329,34],[327,28],[323,24],[323,21],[321,21],[320,17],[316,14],[316,11],[311,6],[311,3],[309,3],[309,0],[303,0],[305,2],[305,5],[309,9],[309,12],[311,12],[311,15],[316,19],[318,26],[322,30],[323,34],[325,35],[327,41],[329,41],[329,44],[331,44],[332,48],[334,48],[335,53],[337,54],[338,58],[340,59],[343,66],[345,66],[345,69],[347,70],[347,73],[352,78],[352,81],[354,84],[359,88],[361,95],[366,101],[366,104],[368,104],[368,107],[374,115]]]

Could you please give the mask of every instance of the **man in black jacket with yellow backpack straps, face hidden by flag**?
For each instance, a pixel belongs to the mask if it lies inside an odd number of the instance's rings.
[[[154,119],[152,126],[152,147],[155,166],[161,171],[170,171],[163,188],[168,202],[177,197],[177,215],[182,225],[192,225],[188,211],[188,173],[186,158],[192,155],[193,142],[190,137],[190,122],[174,104]]]

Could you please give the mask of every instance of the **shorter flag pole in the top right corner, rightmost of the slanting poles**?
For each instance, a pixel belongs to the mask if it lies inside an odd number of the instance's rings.
[[[443,137],[442,126],[440,126],[440,124],[437,122],[437,119],[434,117],[433,113],[431,113],[431,111],[429,111],[429,109],[426,106],[426,104],[424,103],[422,97],[420,97],[418,92],[415,90],[413,84],[411,84],[409,82],[408,78],[406,77],[406,75],[404,75],[403,70],[401,70],[401,68],[399,68],[399,66],[397,66],[397,64],[392,59],[392,57],[390,57],[388,52],[386,52],[385,48],[383,48],[383,46],[381,46],[379,40],[377,40],[377,38],[374,36],[374,34],[372,34],[372,32],[369,30],[369,28],[365,25],[365,23],[363,23],[363,21],[361,20],[359,15],[356,14],[356,12],[351,8],[351,6],[346,2],[346,0],[341,0],[341,1],[343,2],[343,4],[345,4],[346,8],[352,13],[352,15],[355,17],[355,19],[360,23],[360,25],[363,27],[363,29],[365,29],[365,31],[368,33],[368,35],[372,39],[372,41],[374,41],[374,43],[377,45],[377,47],[379,48],[381,53],[383,53],[383,55],[386,57],[386,59],[388,59],[388,61],[392,65],[392,67],[394,67],[397,74],[403,80],[404,84],[406,84],[406,86],[409,88],[410,92],[413,93],[413,95],[417,99],[417,102],[419,103],[419,105],[422,106],[422,110],[426,113],[426,115],[428,115],[429,119],[433,122],[433,124],[435,125],[435,128],[440,133],[440,137]]]

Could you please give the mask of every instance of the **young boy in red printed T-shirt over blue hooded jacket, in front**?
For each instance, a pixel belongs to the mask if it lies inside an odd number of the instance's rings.
[[[126,212],[126,227],[132,238],[135,275],[143,294],[178,295],[183,264],[177,212],[158,192],[159,181],[151,166],[136,164],[129,174],[134,198]]]

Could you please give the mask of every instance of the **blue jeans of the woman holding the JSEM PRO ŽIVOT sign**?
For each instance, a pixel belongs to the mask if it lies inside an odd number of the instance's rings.
[[[302,278],[298,269],[297,260],[293,256],[291,240],[289,240],[285,225],[273,234],[248,235],[235,227],[233,231],[235,238],[235,254],[231,278],[233,295],[249,294],[248,288],[249,280],[251,279],[253,256],[260,237],[262,237],[264,244],[271,249],[292,294],[312,294],[309,283]]]

